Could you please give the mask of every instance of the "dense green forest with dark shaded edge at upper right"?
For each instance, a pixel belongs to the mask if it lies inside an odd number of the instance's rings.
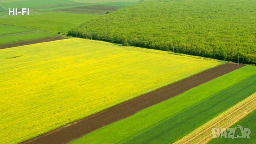
[[[68,35],[256,64],[256,0],[146,0]]]

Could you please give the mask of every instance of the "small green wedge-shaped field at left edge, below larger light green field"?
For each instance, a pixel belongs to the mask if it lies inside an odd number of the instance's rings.
[[[27,31],[32,31],[32,30],[33,29],[30,29],[30,28],[22,28],[19,26],[10,26],[10,25],[0,24],[0,35],[14,34],[14,33],[18,33],[18,32],[27,32]]]

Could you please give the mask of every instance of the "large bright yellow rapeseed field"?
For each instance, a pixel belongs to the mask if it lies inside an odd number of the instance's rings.
[[[0,50],[0,143],[27,140],[220,64],[80,38]]]

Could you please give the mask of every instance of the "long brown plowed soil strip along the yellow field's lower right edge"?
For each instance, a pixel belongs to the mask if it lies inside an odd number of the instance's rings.
[[[92,114],[86,118],[70,123],[70,126],[62,126],[50,132],[41,134],[30,140],[26,140],[21,144],[63,144],[71,140],[80,138],[94,130],[132,116],[136,112],[143,110],[154,104],[158,104],[164,100],[168,100],[174,96],[182,94],[200,84],[218,78],[224,74],[232,72],[244,65],[224,64],[206,70],[184,80],[175,82],[168,86],[154,90],[142,96],[138,96],[116,106],[112,106],[106,110],[102,110],[96,114]]]

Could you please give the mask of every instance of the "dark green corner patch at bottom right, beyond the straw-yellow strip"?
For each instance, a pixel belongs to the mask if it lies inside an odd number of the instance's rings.
[[[208,144],[255,144],[256,143],[256,110],[254,110],[252,113],[248,114],[246,117],[244,117],[242,120],[236,122],[233,126],[230,128],[236,128],[236,126],[240,125],[243,126],[243,128],[249,128],[251,130],[250,139],[248,138],[215,138],[212,141],[210,141]],[[238,132],[237,132],[238,131]],[[236,129],[236,135],[239,133],[239,136],[241,136],[241,131],[239,132],[239,129]]]

